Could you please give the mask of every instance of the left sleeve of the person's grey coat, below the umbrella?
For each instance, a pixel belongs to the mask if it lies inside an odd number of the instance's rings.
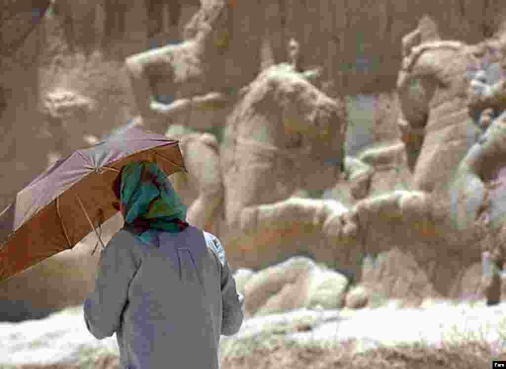
[[[83,306],[88,331],[99,340],[119,329],[129,285],[140,266],[131,242],[121,233],[114,235],[102,250],[95,291],[88,295]]]

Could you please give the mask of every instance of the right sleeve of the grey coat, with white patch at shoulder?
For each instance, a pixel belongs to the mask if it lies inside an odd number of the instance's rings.
[[[226,260],[225,250],[220,239],[208,232],[204,232],[204,237],[219,259],[223,302],[221,334],[232,336],[239,332],[244,319],[244,296],[237,292],[235,279]]]

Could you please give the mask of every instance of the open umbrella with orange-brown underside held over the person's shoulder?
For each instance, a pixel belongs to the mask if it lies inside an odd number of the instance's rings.
[[[0,214],[0,281],[92,231],[102,243],[97,228],[118,211],[112,184],[138,160],[156,162],[167,175],[186,172],[178,141],[132,127],[58,160],[19,191]]]

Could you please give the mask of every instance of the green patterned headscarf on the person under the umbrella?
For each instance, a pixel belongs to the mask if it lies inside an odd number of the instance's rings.
[[[123,168],[120,201],[125,228],[148,243],[158,246],[160,232],[178,233],[188,227],[181,197],[154,162],[134,162]]]

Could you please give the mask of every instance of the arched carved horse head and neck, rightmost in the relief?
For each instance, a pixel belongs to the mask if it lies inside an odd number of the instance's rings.
[[[468,137],[472,122],[464,79],[470,58],[464,44],[439,41],[420,44],[403,61],[397,81],[399,128],[408,155],[414,156],[414,190],[431,193],[448,183],[474,143]],[[452,145],[445,144],[450,140]]]

